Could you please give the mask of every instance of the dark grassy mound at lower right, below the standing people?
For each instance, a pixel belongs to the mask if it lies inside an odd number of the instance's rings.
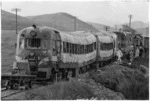
[[[92,73],[91,78],[113,91],[121,92],[126,99],[149,99],[148,78],[137,69],[114,65],[105,67],[100,73]]]

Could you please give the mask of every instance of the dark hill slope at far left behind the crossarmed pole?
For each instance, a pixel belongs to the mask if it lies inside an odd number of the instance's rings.
[[[16,15],[9,13],[7,11],[1,10],[1,21],[3,30],[14,30],[16,29]],[[23,29],[25,27],[31,26],[33,24],[32,20],[18,15],[18,29]]]

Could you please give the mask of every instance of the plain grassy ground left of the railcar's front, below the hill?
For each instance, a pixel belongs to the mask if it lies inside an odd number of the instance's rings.
[[[13,62],[15,61],[16,48],[14,44],[17,41],[15,30],[2,30],[1,34],[1,54],[2,54],[2,73],[11,72]]]

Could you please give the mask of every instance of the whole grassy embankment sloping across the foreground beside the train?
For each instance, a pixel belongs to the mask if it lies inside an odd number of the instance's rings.
[[[148,100],[149,82],[146,62],[134,60],[131,66],[118,64],[89,71],[69,81],[59,81],[52,85],[13,96],[13,100]]]

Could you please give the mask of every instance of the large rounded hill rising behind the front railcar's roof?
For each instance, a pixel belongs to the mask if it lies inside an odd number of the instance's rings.
[[[27,17],[30,20],[38,23],[39,25],[50,26],[62,31],[74,31],[74,16],[61,12],[54,14],[45,14],[39,16],[30,16]],[[76,30],[77,31],[94,31],[98,30],[94,28],[92,25],[89,25],[86,22],[81,21],[80,19],[76,19]]]

